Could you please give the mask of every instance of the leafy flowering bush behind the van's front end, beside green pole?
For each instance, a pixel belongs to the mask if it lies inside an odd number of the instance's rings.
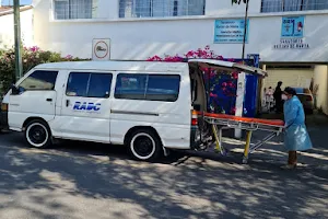
[[[23,73],[39,64],[57,61],[77,61],[80,58],[72,56],[62,57],[59,53],[42,50],[40,48],[24,47],[22,49]],[[0,97],[9,90],[15,77],[15,53],[14,49],[0,50]]]

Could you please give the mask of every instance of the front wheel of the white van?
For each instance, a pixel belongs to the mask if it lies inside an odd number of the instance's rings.
[[[48,148],[52,145],[51,131],[47,123],[40,119],[30,122],[24,131],[26,142],[33,148]]]

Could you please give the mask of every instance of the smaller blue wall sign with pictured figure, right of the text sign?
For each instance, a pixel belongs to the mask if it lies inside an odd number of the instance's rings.
[[[281,38],[302,38],[304,28],[304,16],[282,18]]]

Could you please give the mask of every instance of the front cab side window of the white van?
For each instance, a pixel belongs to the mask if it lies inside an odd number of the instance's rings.
[[[24,91],[51,91],[55,89],[58,71],[36,70],[31,73],[19,85],[21,92]]]

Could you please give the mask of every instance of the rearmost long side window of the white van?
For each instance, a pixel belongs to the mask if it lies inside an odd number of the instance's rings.
[[[116,99],[175,102],[179,94],[179,76],[119,73]]]

